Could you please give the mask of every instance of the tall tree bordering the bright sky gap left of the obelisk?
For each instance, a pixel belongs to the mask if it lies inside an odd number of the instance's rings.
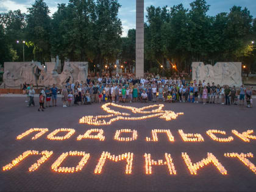
[[[104,63],[113,63],[121,49],[122,23],[118,18],[121,5],[117,0],[96,1],[96,23],[94,25],[94,51],[100,69]],[[101,70],[100,70],[101,71]]]

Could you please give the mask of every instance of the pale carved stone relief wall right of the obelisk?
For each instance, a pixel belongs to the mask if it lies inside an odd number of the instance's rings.
[[[218,62],[214,66],[204,65],[203,62],[192,63],[192,79],[196,82],[215,82],[215,85],[229,85],[240,87],[242,85],[240,62]]]

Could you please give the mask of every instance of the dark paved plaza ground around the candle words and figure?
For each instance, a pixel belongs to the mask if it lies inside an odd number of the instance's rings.
[[[156,103],[164,104],[163,110],[172,110],[175,113],[183,112],[176,119],[166,121],[159,116],[148,119],[119,120],[110,125],[93,126],[79,124],[83,116],[108,115],[100,104],[82,105],[63,108],[58,101],[58,107],[46,108],[44,112],[37,112],[38,98],[35,98],[36,107],[26,107],[25,98],[0,98],[0,190],[1,191],[255,191],[256,171],[244,165],[237,157],[225,157],[229,152],[256,155],[256,140],[249,142],[241,140],[232,130],[246,132],[251,129],[256,135],[256,107],[246,108],[240,105],[223,106],[218,104],[191,104],[191,103]],[[254,99],[254,102],[255,99]],[[133,107],[153,105],[152,103],[120,104]],[[130,113],[129,110],[111,106],[113,110]],[[146,109],[151,110],[151,108]],[[132,113],[132,117],[142,116]],[[35,133],[17,140],[16,137],[30,128],[48,128],[37,140],[31,138]],[[76,132],[67,140],[49,140],[47,135],[55,129],[70,128]],[[89,129],[103,129],[104,141],[97,139],[82,139],[79,135]],[[137,130],[137,140],[117,141],[114,139],[116,130]],[[174,142],[169,141],[166,133],[157,133],[158,141],[146,141],[152,138],[153,129],[169,129]],[[179,129],[184,133],[200,133],[202,142],[185,142],[180,136]],[[230,142],[214,141],[207,135],[207,130],[218,129],[226,131],[226,135],[215,134],[216,137],[233,137]],[[57,133],[63,136],[65,133]],[[97,133],[91,133],[96,135]],[[121,133],[120,137],[131,137],[132,133]],[[49,159],[42,163],[34,172],[29,167],[37,162],[41,155],[30,155],[18,165],[8,171],[2,167],[12,163],[19,155],[28,150],[53,151]],[[63,152],[84,151],[90,154],[87,163],[81,171],[55,172],[52,164]],[[95,174],[102,152],[113,155],[133,153],[132,172],[126,174],[126,160],[113,162],[105,160],[100,174]],[[192,175],[186,165],[182,152],[187,152],[191,162],[196,163],[207,158],[207,152],[212,153],[227,171],[221,174],[213,163],[197,169]],[[168,166],[152,165],[152,174],[146,174],[144,154],[151,154],[155,161],[165,159],[165,153],[171,154],[172,163],[177,171],[176,175],[169,174]],[[82,156],[68,156],[60,166],[76,167]],[[256,165],[255,157],[248,160]]]

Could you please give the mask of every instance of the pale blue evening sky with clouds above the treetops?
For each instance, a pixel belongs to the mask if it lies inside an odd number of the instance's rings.
[[[44,0],[51,11],[51,15],[57,10],[57,4],[66,3],[68,0]],[[256,17],[256,0],[206,0],[207,4],[211,5],[208,15],[214,16],[220,12],[229,12],[233,5],[247,7],[251,15]],[[119,9],[119,18],[123,24],[123,37],[126,37],[129,29],[136,27],[136,1],[135,0],[119,0],[121,8]],[[144,0],[145,15],[146,7],[154,5],[155,7],[163,7],[168,5],[172,7],[182,3],[185,8],[190,8],[190,3],[193,0]],[[9,10],[20,9],[21,12],[26,13],[27,7],[30,7],[34,0],[0,0],[0,13],[8,12]],[[145,17],[146,21],[146,17]]]

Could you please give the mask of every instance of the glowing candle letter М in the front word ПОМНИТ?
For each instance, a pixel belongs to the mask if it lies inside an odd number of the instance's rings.
[[[96,168],[94,169],[95,174],[101,174],[102,167],[105,164],[105,160],[112,160],[114,162],[118,162],[121,160],[126,159],[126,174],[132,174],[132,161],[133,161],[133,153],[125,153],[121,155],[111,155],[110,152],[102,152],[101,157],[99,158],[98,165],[96,165]]]

